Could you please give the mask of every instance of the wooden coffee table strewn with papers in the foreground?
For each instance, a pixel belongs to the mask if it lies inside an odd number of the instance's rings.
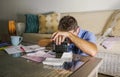
[[[101,58],[80,57],[85,63],[74,72],[44,68],[42,63],[35,63],[24,58],[14,58],[0,51],[0,77],[97,77]]]

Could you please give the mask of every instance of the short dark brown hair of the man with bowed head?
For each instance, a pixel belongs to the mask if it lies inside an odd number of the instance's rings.
[[[77,28],[78,28],[77,21],[72,16],[64,16],[63,18],[61,18],[58,25],[58,30],[61,31],[76,30]]]

